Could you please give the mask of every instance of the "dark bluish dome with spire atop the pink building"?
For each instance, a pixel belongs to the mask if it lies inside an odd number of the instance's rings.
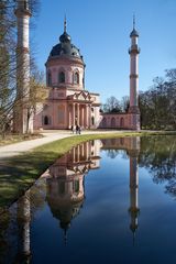
[[[54,56],[69,56],[82,61],[79,48],[72,44],[72,37],[66,32],[66,21],[64,22],[64,33],[59,36],[59,43],[53,46],[51,51],[50,57]]]

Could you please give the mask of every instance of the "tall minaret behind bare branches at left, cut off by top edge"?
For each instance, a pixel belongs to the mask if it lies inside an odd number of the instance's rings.
[[[26,133],[33,131],[33,120],[30,118],[28,107],[30,95],[29,23],[32,14],[29,8],[29,0],[16,0],[16,10],[14,11],[18,21],[16,98],[13,129],[16,133]]]

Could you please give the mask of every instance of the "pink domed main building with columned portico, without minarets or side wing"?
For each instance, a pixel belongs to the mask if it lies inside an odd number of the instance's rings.
[[[70,129],[77,124],[84,129],[98,128],[99,94],[85,89],[86,65],[66,32],[66,21],[45,66],[48,98],[36,109],[34,129]]]

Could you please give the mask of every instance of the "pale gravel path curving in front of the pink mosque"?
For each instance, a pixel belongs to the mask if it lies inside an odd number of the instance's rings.
[[[82,134],[96,134],[96,133],[122,133],[122,131],[84,131]],[[129,131],[130,132],[130,131]],[[12,157],[15,155],[23,154],[28,151],[31,151],[32,148],[56,141],[62,140],[68,136],[73,136],[75,134],[72,134],[70,131],[45,131],[42,133],[44,138],[42,139],[35,139],[31,141],[23,141],[19,143],[14,143],[11,145],[0,146],[0,160]]]

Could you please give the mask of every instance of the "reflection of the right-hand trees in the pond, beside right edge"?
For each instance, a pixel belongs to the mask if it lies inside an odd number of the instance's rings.
[[[148,169],[155,184],[166,184],[167,194],[176,195],[176,136],[142,138],[139,165]]]

